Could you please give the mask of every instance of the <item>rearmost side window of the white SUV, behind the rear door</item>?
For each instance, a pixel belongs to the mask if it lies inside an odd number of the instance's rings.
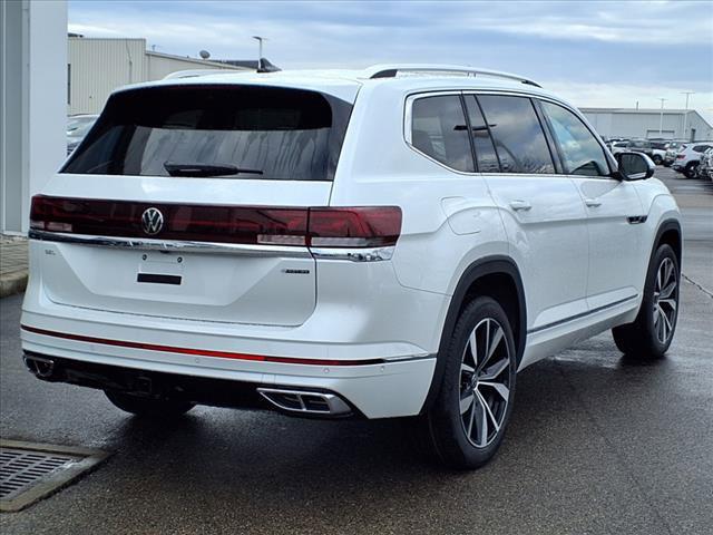
[[[413,100],[411,145],[448,167],[475,171],[466,116],[458,95]]]

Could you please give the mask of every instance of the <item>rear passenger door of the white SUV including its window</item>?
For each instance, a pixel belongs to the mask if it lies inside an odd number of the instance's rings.
[[[531,100],[467,95],[466,101],[479,171],[500,207],[511,255],[520,265],[528,330],[586,312],[586,214],[572,179],[557,173]]]

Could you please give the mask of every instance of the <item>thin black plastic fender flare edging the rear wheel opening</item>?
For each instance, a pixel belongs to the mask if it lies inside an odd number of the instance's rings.
[[[443,329],[441,330],[441,339],[438,346],[438,353],[436,354],[436,369],[433,370],[431,386],[428,390],[428,395],[426,396],[426,401],[423,401],[421,414],[426,412],[432,406],[433,400],[436,399],[440,390],[440,386],[443,379],[443,372],[446,370],[446,352],[448,350],[448,343],[450,341],[451,334],[456,330],[458,315],[466,299],[466,294],[468,293],[468,289],[478,279],[491,274],[509,275],[515,283],[519,309],[519,332],[517,335],[517,340],[515,340],[515,343],[517,347],[517,362],[519,364],[520,359],[522,358],[522,352],[525,351],[525,341],[527,338],[527,307],[525,300],[525,288],[522,285],[520,271],[515,261],[509,256],[484,256],[482,259],[478,259],[468,268],[466,268],[450,299],[448,312],[446,313],[446,321],[443,322]]]

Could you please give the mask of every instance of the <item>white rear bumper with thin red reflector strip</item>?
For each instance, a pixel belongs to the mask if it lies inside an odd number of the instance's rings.
[[[23,324],[27,325],[31,320],[32,314],[25,313]],[[33,331],[22,330],[22,349],[26,354],[68,362],[72,364],[69,369],[99,367],[124,370],[121,377],[129,378],[125,382],[129,386],[131,378],[156,376],[159,378],[156,383],[164,385],[160,388],[166,388],[165,385],[178,385],[191,392],[188,398],[192,401],[229,407],[258,407],[257,388],[280,387],[334,392],[353,407],[353,414],[367,418],[412,416],[419,414],[423,406],[436,367],[433,356],[411,356],[400,360],[370,358],[320,364],[297,360],[291,363],[289,359],[273,362],[214,357],[199,351],[174,352],[172,349],[177,347],[166,346],[166,341],[165,350],[153,347],[139,349],[102,343],[98,339],[79,340],[56,335],[60,331]],[[135,373],[131,374],[131,371]],[[79,376],[75,374],[75,379],[77,377]],[[91,383],[71,380],[71,377],[62,373],[52,380],[94,388],[117,388],[116,381],[113,383],[110,380],[99,380]],[[219,392],[217,398],[216,392]]]

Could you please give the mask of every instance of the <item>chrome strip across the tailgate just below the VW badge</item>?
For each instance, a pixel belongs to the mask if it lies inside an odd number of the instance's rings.
[[[137,251],[164,251],[174,253],[234,254],[237,256],[281,256],[290,259],[310,259],[310,250],[299,246],[248,245],[242,243],[164,241],[146,237],[91,236],[87,234],[67,234],[30,230],[30,240],[43,242],[74,243],[97,247],[134,249]]]

